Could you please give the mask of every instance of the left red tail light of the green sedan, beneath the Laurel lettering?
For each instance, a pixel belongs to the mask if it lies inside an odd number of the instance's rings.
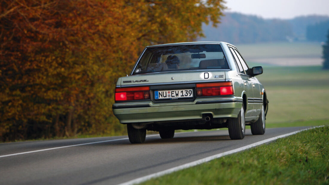
[[[127,87],[115,89],[115,102],[149,99],[150,87]]]

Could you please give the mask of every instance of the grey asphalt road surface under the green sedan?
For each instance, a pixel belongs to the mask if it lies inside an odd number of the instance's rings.
[[[305,128],[267,128],[264,135],[246,129],[243,140],[216,130],[148,135],[134,145],[127,136],[2,143],[0,184],[118,184]]]

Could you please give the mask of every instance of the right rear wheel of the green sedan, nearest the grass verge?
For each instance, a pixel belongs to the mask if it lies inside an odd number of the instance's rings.
[[[228,120],[228,133],[231,139],[243,139],[245,135],[245,120],[243,105],[237,118]]]

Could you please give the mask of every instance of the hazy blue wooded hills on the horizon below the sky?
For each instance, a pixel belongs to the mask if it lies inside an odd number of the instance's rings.
[[[325,41],[329,16],[300,16],[294,19],[264,19],[241,13],[224,13],[217,28],[203,24],[205,38],[199,41],[257,43],[276,41]]]

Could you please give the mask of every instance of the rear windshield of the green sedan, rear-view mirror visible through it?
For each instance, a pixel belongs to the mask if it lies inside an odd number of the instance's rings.
[[[148,48],[133,74],[191,69],[229,69],[218,44],[195,44]]]

